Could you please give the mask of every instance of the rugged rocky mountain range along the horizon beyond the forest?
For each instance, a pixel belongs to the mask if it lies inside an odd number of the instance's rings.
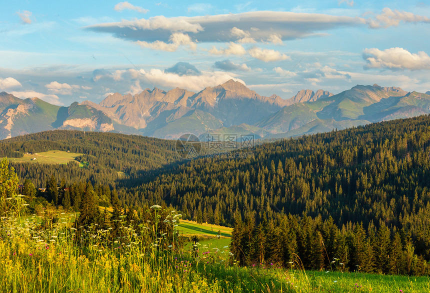
[[[227,82],[195,93],[182,88],[109,94],[69,106],[0,93],[0,139],[49,129],[81,129],[177,138],[193,133],[290,137],[430,113],[430,91],[356,85],[338,94],[306,89],[283,99]]]

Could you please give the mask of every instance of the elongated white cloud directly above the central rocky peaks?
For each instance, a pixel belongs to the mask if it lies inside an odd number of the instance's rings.
[[[154,84],[157,84],[161,87],[174,88],[178,86],[192,91],[199,91],[207,86],[216,86],[229,79],[240,81],[245,84],[243,80],[235,78],[230,74],[221,71],[201,71],[200,75],[178,75],[164,72],[160,69],[150,69],[149,71],[140,69],[138,72],[142,74],[142,77],[147,78]]]

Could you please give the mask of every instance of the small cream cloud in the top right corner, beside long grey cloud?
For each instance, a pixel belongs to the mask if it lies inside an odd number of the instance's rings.
[[[368,12],[367,14],[371,14]],[[382,9],[382,12],[377,15],[371,15],[365,22],[370,28],[380,28],[397,26],[400,22],[405,23],[416,23],[416,22],[428,22],[430,23],[430,18],[422,15],[415,15],[412,12],[399,11],[397,9],[391,10],[388,7]]]

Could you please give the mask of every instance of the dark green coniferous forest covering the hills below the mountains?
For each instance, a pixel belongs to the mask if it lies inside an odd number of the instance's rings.
[[[422,115],[264,142],[237,150],[240,158],[183,161],[174,141],[66,130],[2,140],[0,155],[82,153],[84,167],[12,165],[24,192],[46,187],[40,198],[88,215],[94,204],[161,204],[233,226],[230,249],[242,265],[299,259],[312,269],[422,275],[430,274],[429,145]]]

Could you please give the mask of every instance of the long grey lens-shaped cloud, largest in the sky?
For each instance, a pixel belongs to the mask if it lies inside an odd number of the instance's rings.
[[[167,42],[173,32],[187,32],[198,42],[243,42],[302,38],[341,26],[362,25],[362,18],[287,11],[250,11],[237,14],[164,17],[121,20],[85,27],[110,32],[132,41]]]

